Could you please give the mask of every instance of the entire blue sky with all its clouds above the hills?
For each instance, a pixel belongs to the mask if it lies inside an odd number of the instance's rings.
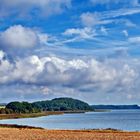
[[[0,3],[1,103],[140,104],[139,0]]]

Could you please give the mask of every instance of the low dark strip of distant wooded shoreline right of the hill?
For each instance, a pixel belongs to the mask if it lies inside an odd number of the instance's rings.
[[[92,105],[91,107],[94,109],[111,109],[111,110],[140,109],[140,106],[138,105]]]

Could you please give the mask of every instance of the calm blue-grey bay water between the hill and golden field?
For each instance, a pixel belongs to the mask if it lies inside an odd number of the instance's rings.
[[[30,125],[47,129],[115,128],[140,131],[140,110],[52,115],[38,118],[0,120],[0,123]]]

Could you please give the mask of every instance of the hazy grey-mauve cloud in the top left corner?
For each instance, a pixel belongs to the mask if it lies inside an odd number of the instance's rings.
[[[50,16],[71,6],[71,0],[0,0],[0,16]]]

